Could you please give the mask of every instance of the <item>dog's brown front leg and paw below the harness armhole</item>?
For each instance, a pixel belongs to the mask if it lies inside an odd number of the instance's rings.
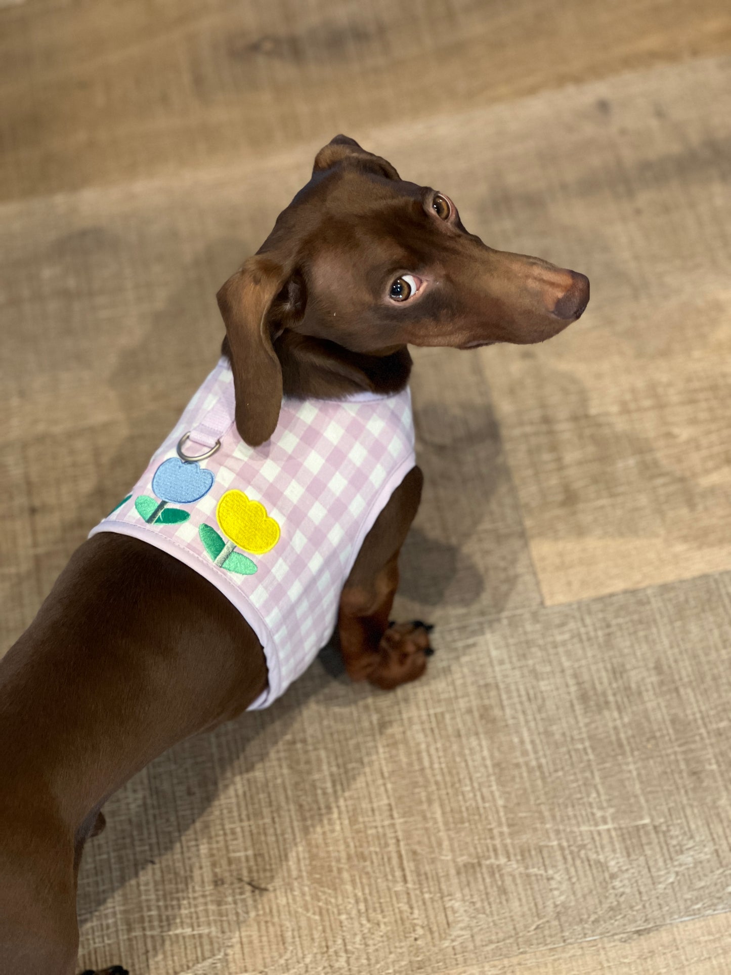
[[[419,506],[423,477],[408,472],[365,536],[340,597],[338,636],[348,675],[384,689],[415,681],[432,650],[420,620],[389,623],[399,585],[399,552]]]

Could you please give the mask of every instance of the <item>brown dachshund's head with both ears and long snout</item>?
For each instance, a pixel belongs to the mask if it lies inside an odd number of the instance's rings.
[[[461,349],[541,342],[582,314],[589,281],[469,233],[444,193],[402,179],[336,136],[271,234],[218,292],[236,389],[236,425],[257,446],[282,402],[285,331],[344,355],[405,345]]]

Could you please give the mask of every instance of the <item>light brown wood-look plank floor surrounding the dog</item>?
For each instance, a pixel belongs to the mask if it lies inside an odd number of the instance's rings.
[[[138,775],[82,967],[727,975],[727,0],[0,0],[0,652],[338,131],[592,302],[544,346],[418,350],[427,677],[326,652]]]

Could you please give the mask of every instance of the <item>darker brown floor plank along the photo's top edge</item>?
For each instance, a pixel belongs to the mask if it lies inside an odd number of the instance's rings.
[[[0,9],[0,199],[729,51],[726,0],[36,0]]]

